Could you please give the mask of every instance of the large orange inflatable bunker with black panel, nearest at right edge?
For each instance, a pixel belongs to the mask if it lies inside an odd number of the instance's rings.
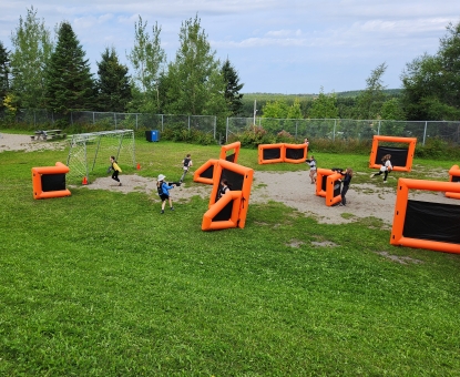
[[[391,245],[460,254],[460,205],[409,200],[409,190],[452,192],[460,184],[399,179]]]

